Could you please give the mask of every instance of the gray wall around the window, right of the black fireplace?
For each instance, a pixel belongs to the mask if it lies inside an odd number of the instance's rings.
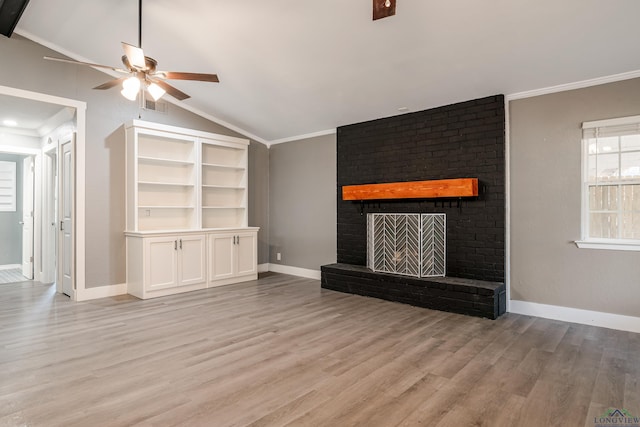
[[[581,125],[640,114],[640,79],[510,103],[511,299],[640,316],[640,253],[578,249]]]

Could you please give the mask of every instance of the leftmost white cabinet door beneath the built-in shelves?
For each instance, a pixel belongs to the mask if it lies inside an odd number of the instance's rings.
[[[178,284],[177,238],[144,239],[144,288],[146,291],[166,289]]]

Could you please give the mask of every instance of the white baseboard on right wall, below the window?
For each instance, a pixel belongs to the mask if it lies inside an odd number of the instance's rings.
[[[511,313],[640,333],[640,317],[511,300]]]

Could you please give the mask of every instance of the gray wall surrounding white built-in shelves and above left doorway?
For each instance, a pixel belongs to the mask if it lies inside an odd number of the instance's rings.
[[[125,281],[125,151],[122,123],[138,118],[136,102],[124,99],[117,89],[92,90],[110,79],[89,67],[45,61],[43,56],[59,54],[18,35],[0,38],[0,84],[87,103],[86,132],[86,286],[96,287]],[[197,90],[197,88],[194,88]],[[237,133],[168,105],[168,113],[142,112],[142,119],[170,125],[239,136]],[[250,184],[267,182],[264,157],[268,151],[251,142]],[[261,185],[264,190],[264,185]],[[255,195],[255,194],[254,194]],[[252,194],[250,193],[250,197]],[[258,201],[249,200],[249,208],[264,209],[264,193]],[[266,262],[268,241],[267,210],[251,212],[250,225],[261,227],[260,262]]]

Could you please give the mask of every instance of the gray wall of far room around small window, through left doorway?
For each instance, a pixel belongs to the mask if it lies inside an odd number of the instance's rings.
[[[0,212],[0,265],[22,264],[22,159],[0,153],[0,161],[16,163],[16,211]]]

